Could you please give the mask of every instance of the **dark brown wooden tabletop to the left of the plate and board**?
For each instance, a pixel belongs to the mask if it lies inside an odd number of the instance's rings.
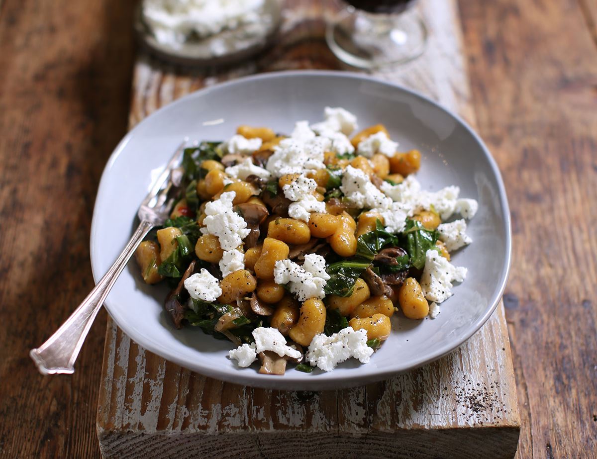
[[[106,314],[73,377],[42,377],[28,352],[93,287],[91,212],[101,170],[126,130],[131,6],[0,7],[0,456],[98,457]]]

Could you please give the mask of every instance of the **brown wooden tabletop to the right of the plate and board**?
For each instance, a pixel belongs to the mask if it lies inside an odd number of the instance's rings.
[[[478,127],[513,222],[504,295],[525,429],[519,457],[597,449],[595,2],[462,2]]]

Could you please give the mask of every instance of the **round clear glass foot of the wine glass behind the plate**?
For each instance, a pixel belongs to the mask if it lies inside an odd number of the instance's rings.
[[[328,23],[325,39],[344,63],[373,69],[421,56],[427,45],[427,27],[414,11],[370,14],[349,7],[336,22]]]

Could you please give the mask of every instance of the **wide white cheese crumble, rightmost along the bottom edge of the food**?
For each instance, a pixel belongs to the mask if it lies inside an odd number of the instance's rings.
[[[331,336],[315,335],[305,358],[312,366],[324,371],[332,371],[340,362],[354,357],[361,363],[370,361],[373,349],[367,346],[367,331],[352,327],[341,329]]]

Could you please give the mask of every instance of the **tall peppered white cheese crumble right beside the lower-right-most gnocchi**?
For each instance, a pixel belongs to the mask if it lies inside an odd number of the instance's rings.
[[[421,275],[421,289],[429,301],[441,303],[452,296],[452,282],[462,282],[466,278],[467,269],[456,267],[446,260],[435,249],[425,252],[425,267]]]

